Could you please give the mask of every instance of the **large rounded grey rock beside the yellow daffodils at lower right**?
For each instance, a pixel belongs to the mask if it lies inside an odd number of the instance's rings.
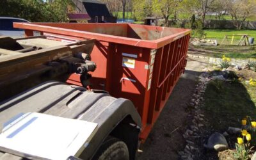
[[[208,139],[207,145],[204,146],[205,148],[214,149],[219,152],[222,150],[226,150],[228,148],[228,143],[226,138],[222,134],[215,132]]]

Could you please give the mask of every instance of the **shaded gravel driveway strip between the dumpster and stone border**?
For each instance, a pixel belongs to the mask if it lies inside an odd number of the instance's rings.
[[[147,140],[140,146],[137,159],[179,159],[177,151],[184,149],[182,132],[187,127],[186,104],[207,63],[204,59],[188,58],[185,74],[176,84]]]

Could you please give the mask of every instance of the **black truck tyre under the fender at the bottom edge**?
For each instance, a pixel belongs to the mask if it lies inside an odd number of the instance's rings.
[[[108,136],[102,143],[93,159],[129,160],[129,150],[124,141]]]

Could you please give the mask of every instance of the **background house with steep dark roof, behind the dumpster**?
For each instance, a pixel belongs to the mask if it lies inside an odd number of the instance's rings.
[[[76,6],[76,14],[82,14],[82,17],[88,14],[90,19],[87,21],[90,23],[116,23],[116,18],[110,15],[106,4],[99,0],[72,0],[72,2]]]

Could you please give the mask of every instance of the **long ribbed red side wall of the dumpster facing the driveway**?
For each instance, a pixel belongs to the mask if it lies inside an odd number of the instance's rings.
[[[174,42],[157,49],[156,60],[150,92],[147,126],[141,132],[145,140],[157,117],[166,104],[172,90],[186,67],[189,35],[182,36]]]

